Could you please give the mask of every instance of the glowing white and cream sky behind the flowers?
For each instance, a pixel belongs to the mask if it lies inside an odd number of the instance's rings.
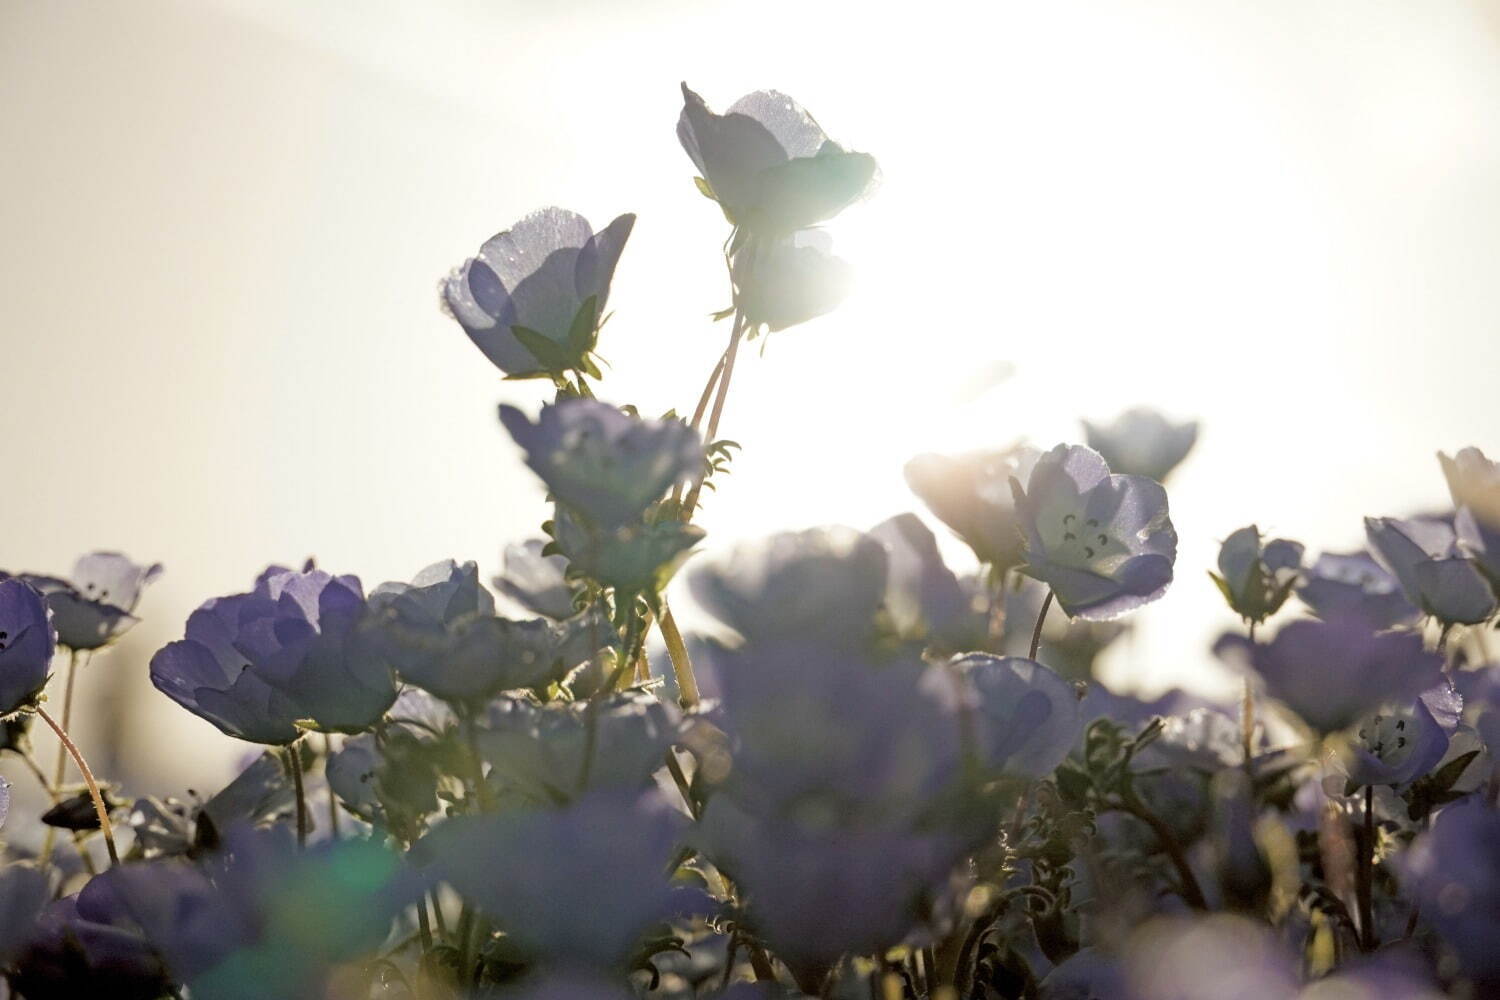
[[[166,564],[81,709],[136,787],[234,753],[146,679],[200,601],[309,553],[366,586],[488,574],[534,534],[494,408],[540,390],[436,306],[488,235],[546,204],[639,213],[604,396],[692,406],[728,291],[680,79],[718,108],[783,90],[884,174],[831,226],[852,298],[742,357],[712,544],[914,508],[916,451],[1197,417],[1178,585],[1110,676],[1214,687],[1220,538],[1347,547],[1362,514],[1444,499],[1436,450],[1500,451],[1500,3],[879,9],[0,6],[0,565]],[[994,360],[1017,376],[960,402]]]

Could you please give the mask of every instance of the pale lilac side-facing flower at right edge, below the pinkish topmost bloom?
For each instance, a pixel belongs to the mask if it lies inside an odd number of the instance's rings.
[[[1496,595],[1458,549],[1454,526],[1436,517],[1366,517],[1370,547],[1406,595],[1444,625],[1478,625],[1496,613]]]

